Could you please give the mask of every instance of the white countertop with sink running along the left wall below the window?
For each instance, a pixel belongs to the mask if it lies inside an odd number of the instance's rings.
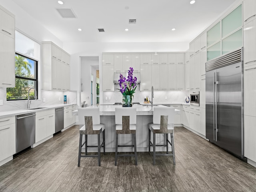
[[[43,111],[43,110],[49,110],[49,109],[54,109],[54,108],[58,108],[58,107],[71,106],[71,105],[74,105],[74,104],[75,103],[73,103],[73,104],[57,104],[57,105],[49,105],[49,106],[38,106],[38,107],[42,107],[42,108],[41,109],[36,109],[36,110],[33,110],[33,108],[31,108],[31,109],[0,111],[0,118],[10,117],[10,116],[15,116],[15,115],[21,115],[21,114],[26,114],[26,113],[33,113],[33,112],[38,112],[38,111]],[[35,107],[35,108],[38,108],[38,107]]]

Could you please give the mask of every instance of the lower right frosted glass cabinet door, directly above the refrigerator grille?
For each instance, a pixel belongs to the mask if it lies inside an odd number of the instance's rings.
[[[222,55],[243,46],[242,29],[222,39]]]

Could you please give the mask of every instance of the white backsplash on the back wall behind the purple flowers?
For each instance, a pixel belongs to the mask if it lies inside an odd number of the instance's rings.
[[[115,91],[103,92],[103,104],[114,104],[122,102],[122,94],[117,90],[119,84],[115,84]],[[188,91],[156,91],[154,90],[154,103],[184,103],[185,97],[189,94]],[[151,99],[151,91],[140,91],[140,85],[137,85],[132,102],[144,102],[144,98],[148,96]],[[165,99],[167,97],[167,99]],[[107,100],[106,100],[107,98]],[[109,99],[110,98],[110,99]]]

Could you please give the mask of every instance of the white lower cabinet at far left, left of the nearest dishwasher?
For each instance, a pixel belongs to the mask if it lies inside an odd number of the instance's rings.
[[[15,121],[15,116],[0,118],[0,162],[9,157],[11,160],[16,152]]]

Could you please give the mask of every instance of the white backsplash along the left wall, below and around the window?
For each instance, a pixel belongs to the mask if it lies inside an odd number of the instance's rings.
[[[63,104],[64,95],[67,96],[67,104],[76,104],[76,91],[61,92],[41,90],[39,97],[40,99],[32,100],[30,108]],[[45,98],[45,102],[43,102],[43,98]],[[28,106],[27,100],[6,101],[6,88],[0,88],[0,99],[3,100],[3,105],[0,105],[0,111],[26,109]]]

